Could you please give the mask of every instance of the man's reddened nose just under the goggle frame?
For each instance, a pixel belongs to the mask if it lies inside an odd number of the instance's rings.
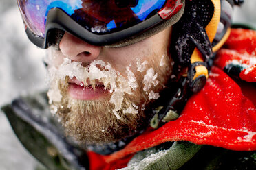
[[[61,38],[59,48],[65,57],[76,62],[92,62],[98,58],[101,51],[101,47],[90,45],[67,32]]]

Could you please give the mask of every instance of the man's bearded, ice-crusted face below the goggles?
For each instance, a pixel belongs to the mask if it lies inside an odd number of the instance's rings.
[[[134,45],[96,47],[65,33],[48,49],[51,110],[81,143],[109,143],[148,125],[145,112],[171,75],[171,28]]]

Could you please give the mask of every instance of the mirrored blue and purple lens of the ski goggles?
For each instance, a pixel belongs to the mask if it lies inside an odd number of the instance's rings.
[[[103,1],[103,0],[99,0]],[[106,0],[111,1],[111,0]],[[113,14],[113,20],[109,23],[103,23],[103,25],[89,25],[89,29],[95,29],[95,27],[107,27],[109,31],[115,31],[117,28],[130,27],[136,25],[141,21],[147,19],[151,14],[156,14],[158,10],[162,8],[166,0],[136,0],[138,1],[135,7],[131,7],[131,10],[136,16],[134,18],[127,18],[124,21],[114,21],[115,15]],[[83,0],[26,0],[25,1],[25,11],[27,12],[27,23],[32,29],[34,34],[43,37],[45,33],[45,22],[47,20],[47,14],[52,8],[60,8],[69,16],[72,16],[75,13],[75,10],[81,9]],[[96,5],[97,6],[97,5]],[[98,10],[98,9],[95,9]],[[127,9],[126,9],[127,10]],[[86,10],[85,10],[86,11]],[[155,12],[155,13],[153,13]],[[104,12],[103,12],[104,13]],[[111,12],[109,12],[111,14]],[[104,17],[104,16],[103,16]],[[111,19],[111,16],[107,16]],[[83,20],[83,18],[81,18]],[[77,21],[78,22],[78,21]],[[85,22],[87,22],[85,20]],[[94,23],[94,21],[92,21]],[[84,24],[84,27],[87,29],[87,25]]]

